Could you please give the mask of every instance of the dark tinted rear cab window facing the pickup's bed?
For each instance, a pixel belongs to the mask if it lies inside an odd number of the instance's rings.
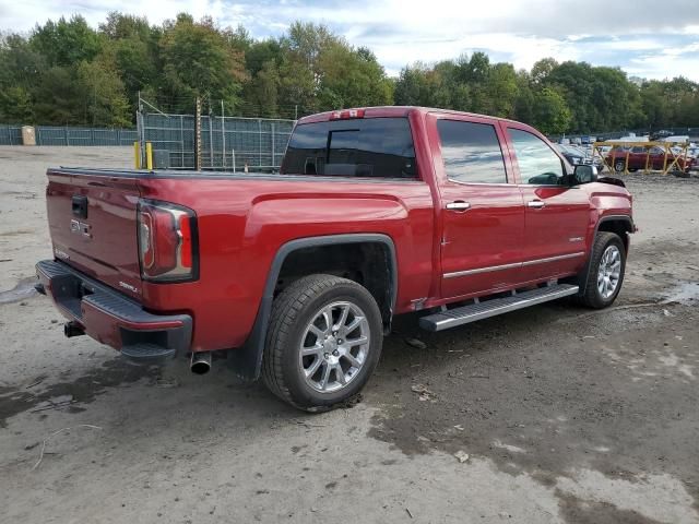
[[[407,118],[358,118],[296,126],[283,175],[417,179]]]

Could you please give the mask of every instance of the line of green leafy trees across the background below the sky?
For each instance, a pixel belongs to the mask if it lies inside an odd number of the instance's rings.
[[[374,52],[296,22],[279,38],[181,13],[161,25],[80,15],[0,38],[0,122],[132,126],[140,97],[167,112],[296,118],[420,105],[532,123],[545,133],[699,126],[699,84],[629,79],[619,68],[546,58],[531,71],[474,52],[412,63],[390,78]],[[145,108],[147,109],[147,107]]]

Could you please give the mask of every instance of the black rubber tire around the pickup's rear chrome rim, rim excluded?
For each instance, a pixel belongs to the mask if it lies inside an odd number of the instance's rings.
[[[300,346],[308,324],[327,305],[346,301],[365,313],[370,334],[368,353],[356,376],[339,391],[321,392],[306,381],[299,366]],[[381,356],[383,325],[371,294],[356,282],[333,275],[309,275],[284,289],[274,300],[266,333],[262,378],[276,396],[307,412],[346,405],[362,391]],[[322,364],[322,362],[321,362]],[[336,377],[336,376],[335,376]]]

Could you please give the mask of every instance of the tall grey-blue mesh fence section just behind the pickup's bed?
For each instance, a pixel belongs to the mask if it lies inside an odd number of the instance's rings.
[[[141,112],[141,142],[150,142],[156,168],[194,169],[193,115]],[[202,169],[241,171],[279,170],[294,120],[201,117]]]

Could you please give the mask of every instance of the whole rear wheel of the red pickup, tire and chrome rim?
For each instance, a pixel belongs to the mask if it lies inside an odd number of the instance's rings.
[[[280,398],[309,412],[354,397],[381,354],[383,326],[371,294],[346,278],[299,278],[274,300],[263,379]]]

